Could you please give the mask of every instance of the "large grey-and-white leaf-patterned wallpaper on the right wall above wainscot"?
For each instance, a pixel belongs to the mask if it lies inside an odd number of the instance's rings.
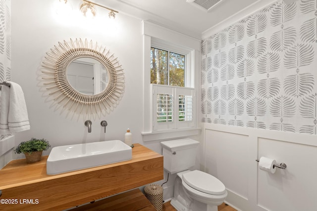
[[[278,0],[202,42],[202,122],[317,134],[317,0]]]

